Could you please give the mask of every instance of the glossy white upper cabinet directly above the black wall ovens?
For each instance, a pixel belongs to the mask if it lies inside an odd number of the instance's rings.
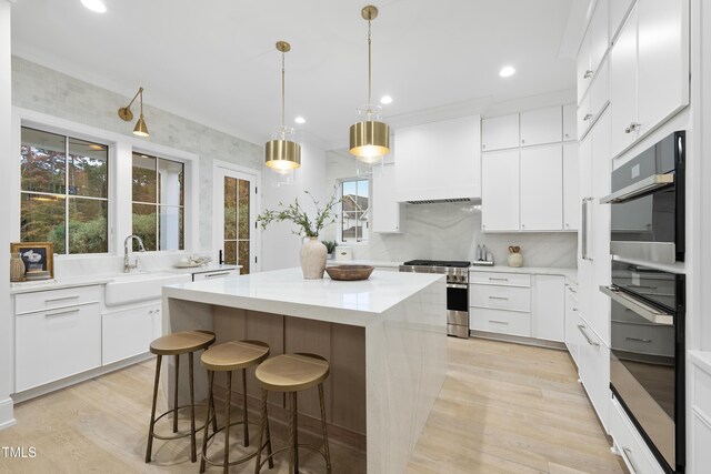
[[[639,0],[610,52],[611,153],[689,104],[689,1]]]

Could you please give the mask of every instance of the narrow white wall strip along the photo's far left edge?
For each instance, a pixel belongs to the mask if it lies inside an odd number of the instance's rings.
[[[10,2],[0,0],[0,175],[10,175],[8,157],[12,155],[11,122],[11,67],[10,67]],[[10,202],[10,190],[0,186],[0,202]],[[0,222],[9,219],[9,205],[0,205]],[[0,430],[14,423],[10,399],[10,364],[12,357],[12,309],[10,304],[10,229],[0,225]]]

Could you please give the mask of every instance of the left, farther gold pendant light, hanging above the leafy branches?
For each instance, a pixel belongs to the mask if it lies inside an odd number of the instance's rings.
[[[293,140],[293,128],[284,127],[284,54],[291,50],[291,44],[278,41],[277,50],[281,51],[281,125],[267,142],[264,163],[278,173],[288,173],[301,167],[301,145]]]

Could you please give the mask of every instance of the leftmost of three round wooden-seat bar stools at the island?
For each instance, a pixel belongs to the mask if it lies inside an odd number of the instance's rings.
[[[153,407],[151,409],[151,422],[148,427],[148,446],[146,447],[146,462],[151,462],[153,438],[158,440],[177,440],[180,437],[190,436],[190,460],[194,463],[198,461],[197,446],[196,446],[196,400],[194,400],[194,379],[193,379],[193,354],[196,351],[200,351],[209,347],[214,343],[214,333],[210,331],[181,331],[172,334],[158,337],[151,342],[150,351],[157,355],[156,361],[156,383],[153,384]],[[188,374],[190,379],[190,405],[178,406],[178,374],[180,371],[180,355],[188,354]],[[173,409],[167,411],[160,416],[156,417],[156,402],[158,400],[158,382],[160,381],[160,365],[163,355],[176,356],[176,386],[173,391]],[[210,396],[208,405],[214,405],[214,401]],[[158,435],[154,432],[156,423],[168,415],[173,414],[173,433],[178,433],[178,410],[190,406],[190,432],[180,433],[176,436]],[[209,411],[209,409],[208,409]],[[201,428],[202,426],[200,426]],[[217,423],[214,425],[217,430]]]

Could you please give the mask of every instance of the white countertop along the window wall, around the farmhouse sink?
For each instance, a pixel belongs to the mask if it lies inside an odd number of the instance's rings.
[[[151,273],[153,274],[156,273],[176,273],[176,274],[206,273],[206,272],[216,272],[220,270],[232,270],[237,268],[239,266],[208,264],[204,266],[194,266],[189,269],[178,269],[174,266],[169,266],[167,269],[154,269],[150,271],[133,272],[133,273],[62,276],[58,279],[42,280],[37,282],[10,283],[10,294],[32,293],[36,291],[62,290],[66,288],[101,285],[101,284],[111,283],[117,279],[130,279],[131,275],[138,276],[138,275],[151,274]]]

